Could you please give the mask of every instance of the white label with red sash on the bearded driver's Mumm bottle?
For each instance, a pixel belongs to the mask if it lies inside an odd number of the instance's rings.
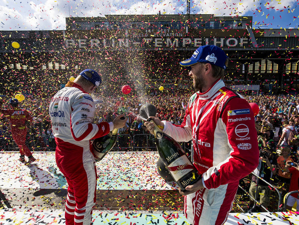
[[[190,164],[190,160],[186,155],[175,159],[175,161],[170,163],[167,167],[175,181],[178,181],[190,171],[194,170],[194,166]]]

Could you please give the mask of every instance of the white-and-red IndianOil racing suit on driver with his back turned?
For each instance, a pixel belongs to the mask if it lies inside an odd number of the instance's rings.
[[[92,124],[94,113],[91,96],[73,82],[68,82],[50,102],[56,163],[68,182],[67,225],[91,223],[97,173],[90,139],[107,135],[113,129],[113,123]]]

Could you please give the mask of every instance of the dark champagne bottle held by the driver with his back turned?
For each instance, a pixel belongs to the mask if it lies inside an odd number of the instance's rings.
[[[117,140],[118,128],[113,129],[109,134],[96,138],[92,142],[92,151],[96,160],[102,160],[105,155],[113,148]]]

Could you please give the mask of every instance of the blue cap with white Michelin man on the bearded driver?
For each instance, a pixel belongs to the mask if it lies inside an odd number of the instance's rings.
[[[224,51],[215,45],[204,45],[197,48],[190,59],[184,60],[179,64],[183,67],[190,67],[195,63],[211,63],[215,66],[226,69],[227,55]]]

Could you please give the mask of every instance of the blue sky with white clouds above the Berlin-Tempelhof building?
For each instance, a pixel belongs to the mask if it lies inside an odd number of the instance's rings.
[[[253,16],[254,27],[298,29],[299,0],[191,0],[191,14]],[[63,30],[65,17],[185,14],[186,0],[0,0],[0,30]]]

